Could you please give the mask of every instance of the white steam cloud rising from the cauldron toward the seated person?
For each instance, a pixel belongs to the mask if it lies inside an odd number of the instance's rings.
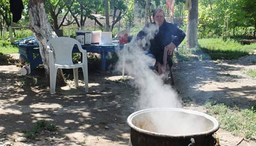
[[[146,40],[154,38],[158,32],[158,27],[150,25],[144,27],[147,36]],[[147,42],[150,45],[150,42]],[[117,70],[122,70],[123,51],[118,53]],[[145,50],[137,45],[136,37],[129,43],[127,58],[125,59],[125,73],[134,77],[133,85],[139,89],[140,99],[136,103],[138,110],[145,108],[182,108],[181,102],[177,98],[177,93],[164,84],[161,76],[153,72],[149,66],[154,66],[155,59],[148,57]]]

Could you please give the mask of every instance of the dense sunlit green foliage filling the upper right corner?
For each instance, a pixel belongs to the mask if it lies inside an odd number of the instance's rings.
[[[229,36],[233,31],[239,33],[241,27],[255,27],[255,9],[256,4],[251,0],[212,0],[211,5],[209,1],[199,0],[199,38],[216,38],[222,35],[222,31],[225,34],[227,31]]]

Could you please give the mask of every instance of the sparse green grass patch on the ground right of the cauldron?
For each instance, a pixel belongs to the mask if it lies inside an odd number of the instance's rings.
[[[216,104],[207,102],[204,105],[207,113],[218,119],[220,127],[232,132],[234,135],[244,135],[246,139],[256,139],[256,111],[252,107],[250,109],[239,109],[224,104]]]

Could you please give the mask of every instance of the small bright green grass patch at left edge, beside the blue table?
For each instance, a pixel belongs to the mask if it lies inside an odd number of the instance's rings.
[[[8,41],[0,40],[0,53],[3,53],[3,54],[19,53],[18,46],[12,45]]]

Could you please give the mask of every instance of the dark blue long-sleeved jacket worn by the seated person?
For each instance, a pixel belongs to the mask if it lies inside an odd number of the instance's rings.
[[[163,64],[163,51],[165,46],[171,42],[178,46],[185,38],[185,33],[176,27],[172,23],[167,23],[165,20],[159,30],[148,31],[149,28],[153,28],[155,23],[147,24],[138,34],[137,39],[143,39],[146,37],[150,39],[150,51],[155,56],[158,62]],[[148,37],[153,35],[152,37]]]

